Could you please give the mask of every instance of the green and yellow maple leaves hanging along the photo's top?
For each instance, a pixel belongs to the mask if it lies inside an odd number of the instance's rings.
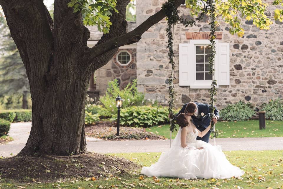
[[[203,7],[206,6],[206,2],[207,0],[185,1],[192,16],[200,14]],[[115,9],[116,0],[72,0],[68,5],[74,8],[74,12],[82,12],[85,25],[97,25],[98,29],[104,33],[108,33],[111,26],[109,20],[111,11],[117,12]],[[273,5],[282,6],[282,1],[275,0]],[[269,29],[273,22],[264,14],[267,6],[269,5],[261,0],[216,0],[215,16],[222,17],[231,26],[230,33],[232,35],[237,34],[242,37],[244,29],[239,17],[246,20],[252,19],[254,25],[261,30]],[[283,21],[283,8],[274,11],[274,18]]]

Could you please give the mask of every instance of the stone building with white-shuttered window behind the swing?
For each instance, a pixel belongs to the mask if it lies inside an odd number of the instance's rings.
[[[164,2],[165,0],[136,1],[136,25],[140,25],[158,12]],[[269,6],[266,12],[274,22],[270,30],[259,30],[252,25],[252,20],[242,20],[245,29],[243,38],[231,35],[229,25],[218,19],[215,79],[218,81],[216,103],[220,109],[240,100],[259,107],[269,99],[282,98],[283,25],[282,22],[275,22],[273,19],[275,8]],[[180,15],[191,19],[185,6],[180,6],[178,10]],[[208,18],[204,18],[193,27],[185,28],[179,24],[174,26],[174,52],[177,64],[174,74],[177,78],[175,92],[178,105],[189,101],[210,101],[211,76],[207,74],[210,30],[208,22]],[[171,73],[166,49],[166,27],[167,22],[163,19],[145,32],[141,40],[135,44],[136,48],[132,49],[132,52],[136,52],[135,69],[139,91],[144,92],[146,98],[161,102],[168,100],[168,78]],[[122,48],[120,50],[123,50]],[[97,71],[97,78],[121,78],[122,85],[123,82],[129,82],[134,78],[134,72],[129,72],[130,77],[125,76],[129,80],[124,81],[124,73],[121,68],[117,68],[119,66],[115,61],[117,56]],[[114,70],[117,70],[117,73]],[[97,85],[104,90],[106,80],[97,80]]]

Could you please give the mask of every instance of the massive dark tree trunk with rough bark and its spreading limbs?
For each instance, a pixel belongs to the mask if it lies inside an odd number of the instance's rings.
[[[79,154],[86,151],[84,102],[91,74],[104,66],[120,46],[139,41],[165,17],[161,10],[127,33],[126,6],[118,0],[110,32],[87,47],[89,30],[82,15],[55,0],[54,22],[43,0],[0,0],[27,72],[32,97],[32,128],[19,155]],[[185,0],[176,0],[176,8]]]

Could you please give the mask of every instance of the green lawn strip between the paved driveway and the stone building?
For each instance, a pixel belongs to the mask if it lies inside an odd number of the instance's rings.
[[[170,125],[160,125],[146,128],[147,131],[170,138]],[[283,137],[283,121],[266,120],[266,129],[259,130],[259,120],[221,121],[215,125],[219,130],[219,138],[240,137]],[[179,129],[177,125],[177,129]],[[172,139],[177,132],[172,133]]]

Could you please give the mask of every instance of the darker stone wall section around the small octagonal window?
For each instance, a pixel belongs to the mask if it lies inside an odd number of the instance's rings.
[[[127,66],[121,66],[116,61],[116,55],[124,50],[131,54],[131,62]],[[100,95],[105,94],[108,82],[114,79],[118,80],[120,89],[136,79],[136,49],[119,49],[105,66],[96,71],[96,89]]]

